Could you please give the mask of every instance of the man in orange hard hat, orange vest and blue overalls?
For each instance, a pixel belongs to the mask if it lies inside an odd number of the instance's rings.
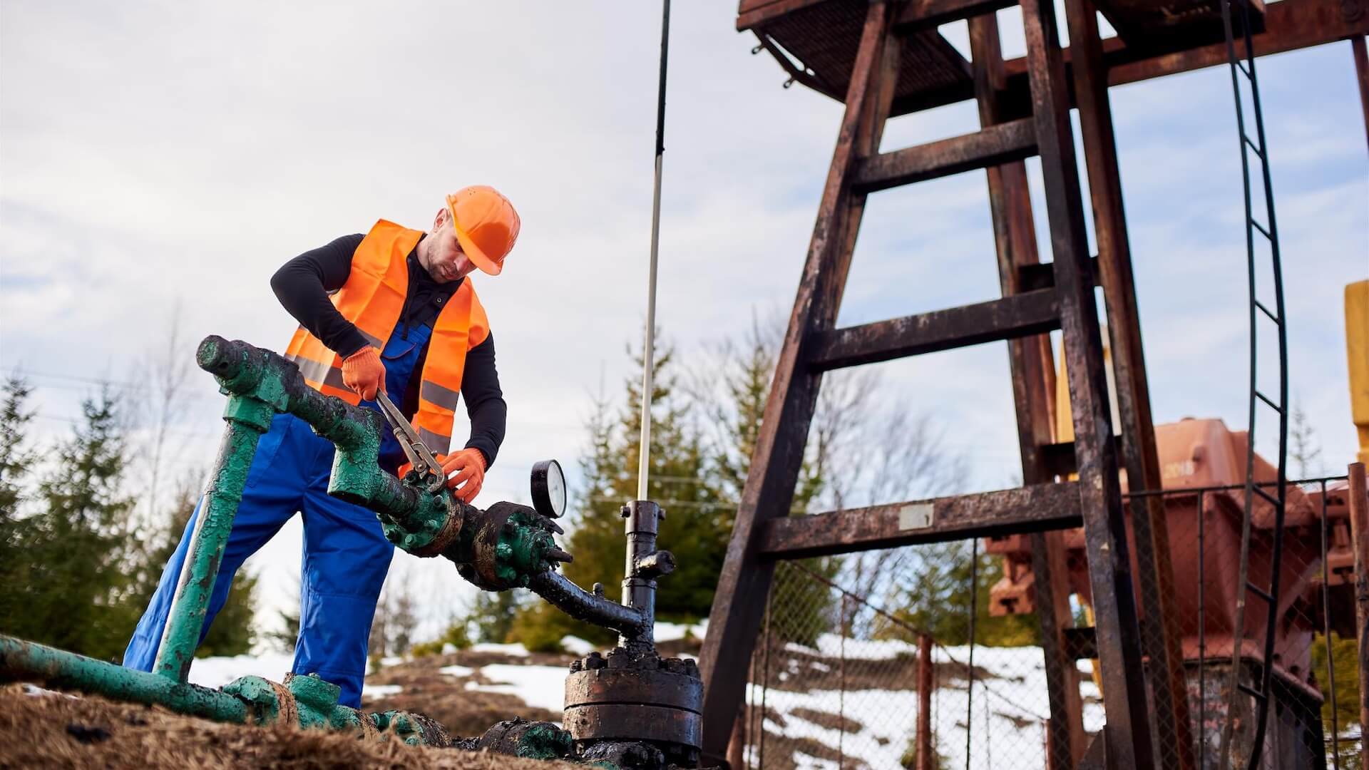
[[[372,410],[376,390],[385,390],[465,503],[481,492],[498,454],[508,411],[494,337],[467,275],[474,269],[498,275],[517,233],[507,197],[470,186],[446,196],[428,233],[382,219],[366,236],[301,253],[271,278],[277,299],[300,322],[285,356],[305,382]],[[471,437],[449,452],[457,393]],[[382,432],[381,467],[402,477],[404,459],[394,436]],[[242,562],[298,511],[304,555],[293,671],[316,673],[341,686],[344,706],[359,707],[371,621],[394,547],[372,511],[329,496],[331,469],[330,441],[294,415],[275,415],[257,444],[200,641]],[[203,506],[201,497],[129,641],[125,666],[152,670]]]

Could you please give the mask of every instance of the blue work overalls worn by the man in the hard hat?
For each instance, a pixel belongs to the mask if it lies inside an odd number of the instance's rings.
[[[431,326],[404,327],[402,321],[390,333],[381,358],[392,399],[402,397],[431,333]],[[375,401],[361,401],[361,406],[378,410]],[[393,473],[404,459],[394,436],[382,432],[381,467]],[[372,511],[329,496],[331,470],[333,443],[315,434],[294,415],[275,415],[252,459],[242,504],[238,506],[214,581],[200,641],[204,641],[209,623],[227,601],[233,575],[242,562],[298,511],[304,517],[304,555],[300,566],[300,637],[294,645],[293,671],[318,673],[342,688],[340,701],[344,706],[359,708],[371,619],[394,547],[385,538]],[[130,669],[152,670],[190,547],[194,519],[203,504],[201,496],[123,654],[123,665]]]

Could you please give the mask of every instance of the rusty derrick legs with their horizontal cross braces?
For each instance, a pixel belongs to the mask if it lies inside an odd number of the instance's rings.
[[[723,756],[732,732],[776,559],[984,534],[1040,533],[1083,523],[1097,618],[1095,638],[1103,673],[1109,759],[1118,767],[1153,766],[1151,712],[1143,681],[1146,666],[1142,665],[1143,637],[1127,551],[1118,458],[1112,440],[1102,337],[1095,322],[1098,308],[1092,293],[1095,281],[1102,280],[1105,292],[1116,295],[1116,300],[1109,296],[1109,314],[1113,344],[1127,356],[1127,382],[1118,389],[1125,390],[1120,395],[1124,401],[1120,411],[1128,470],[1138,481],[1146,480],[1146,488],[1151,482],[1158,486],[1144,364],[1139,332],[1135,330],[1129,256],[1124,251],[1125,225],[1117,197],[1114,211],[1105,211],[1109,218],[1106,226],[1110,227],[1109,249],[1099,255],[1095,267],[1087,253],[1068,116],[1069,82],[1055,36],[1054,10],[1038,0],[1024,0],[1021,7],[1027,30],[1031,116],[1009,122],[998,119],[993,97],[1002,86],[994,78],[1002,78],[1003,70],[1001,60],[997,64],[993,60],[998,56],[997,29],[991,16],[977,18],[971,29],[979,60],[976,95],[980,97],[984,129],[976,134],[882,153],[879,140],[890,114],[902,44],[894,33],[894,22],[906,22],[908,5],[878,0],[869,5],[836,149],[709,619],[715,630],[705,638],[701,655],[706,756]],[[965,16],[973,14],[967,11]],[[1097,30],[1091,32],[1097,42]],[[1094,75],[1097,78],[1097,71]],[[1082,84],[1080,74],[1075,77],[1077,90],[1094,95],[1094,112],[1106,114],[1106,78]],[[1098,93],[1102,93],[1102,101],[1097,100]],[[1106,142],[1113,155],[1103,158],[1097,167],[1094,163],[1088,167],[1095,188],[1095,212],[1101,203],[1109,203],[1099,201],[1101,195],[1120,196],[1120,185],[1114,181],[1108,185],[1108,177],[1116,178],[1112,126],[1110,122],[1097,122],[1097,114],[1083,123],[1086,145]],[[1054,251],[1051,285],[1047,288],[1024,284],[1028,274],[1024,267],[1038,262],[1025,174],[1020,163],[1031,155],[1042,159],[1047,193]],[[990,175],[1003,297],[834,329],[867,195],[972,169],[987,169]],[[1099,241],[1102,245],[1103,236]],[[1071,467],[1064,471],[1051,460],[1053,455],[1060,455],[1061,447],[1050,447],[1051,389],[1047,385],[1053,378],[1053,366],[1043,333],[1054,329],[1060,329],[1064,337],[1075,433],[1073,444],[1064,447],[1065,454],[1073,455]],[[1118,334],[1125,334],[1121,344]],[[890,526],[888,510],[899,506],[773,518],[775,511],[790,508],[823,371],[994,340],[1012,340],[1010,362],[1027,486],[930,501],[935,523],[921,533]],[[1057,451],[1047,451],[1051,448]],[[1077,473],[1079,481],[1049,482],[1054,474],[1062,473]],[[1147,512],[1138,511],[1138,518],[1151,519]],[[1168,563],[1155,563],[1162,559],[1158,555],[1162,549],[1150,547],[1165,543],[1161,517],[1143,523],[1151,526],[1138,532],[1138,538],[1147,541],[1138,543],[1138,549],[1150,554],[1140,555],[1140,567],[1168,571]],[[1082,758],[1083,736],[1073,666],[1061,644],[1061,632],[1068,625],[1068,589],[1049,580],[1054,575],[1054,582],[1060,584],[1065,574],[1058,534],[1034,537],[1034,570],[1038,574],[1036,593],[1051,691],[1051,766],[1071,767]],[[1147,614],[1154,611],[1153,617],[1165,618],[1168,612],[1158,604],[1165,592],[1160,580],[1155,581],[1160,586],[1155,593],[1143,596],[1143,600]],[[1164,630],[1168,629],[1151,629],[1150,638],[1161,641],[1147,644],[1151,660],[1162,660],[1162,665],[1151,666],[1154,682],[1168,684],[1161,686],[1165,693],[1157,700],[1157,717],[1168,721],[1175,730],[1170,734],[1187,736],[1181,670],[1176,669],[1177,655],[1168,654],[1173,651],[1173,643],[1165,638],[1169,634]],[[1176,766],[1191,766],[1191,760],[1183,759],[1187,743],[1181,743]]]

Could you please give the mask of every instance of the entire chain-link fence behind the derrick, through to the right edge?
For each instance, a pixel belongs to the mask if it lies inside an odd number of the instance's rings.
[[[1288,489],[1259,765],[1364,770],[1346,485],[1327,478],[1290,482]],[[1149,503],[1143,497],[1128,506]],[[1231,766],[1243,769],[1255,703],[1231,697],[1228,685],[1244,492],[1177,489],[1154,497],[1170,544],[1175,589],[1168,608],[1180,640],[1190,725],[1188,752],[1179,751],[1173,732],[1154,736],[1157,765],[1216,770],[1221,730],[1233,717]],[[1253,522],[1250,575],[1268,585],[1272,510],[1257,506]],[[1064,540],[1073,622],[1087,628],[1082,530],[1064,533]],[[741,766],[1047,767],[1053,703],[1028,548],[1029,538],[1016,536],[779,563],[737,732],[745,747]],[[1138,586],[1139,607],[1139,595],[1150,588]],[[1246,615],[1238,674],[1257,685],[1265,617],[1254,600]],[[1142,626],[1143,636],[1157,630],[1144,617]],[[1068,670],[1066,689],[1076,688],[1083,723],[1079,751],[1105,722],[1101,680],[1087,658]],[[1054,706],[1065,712],[1062,703]]]

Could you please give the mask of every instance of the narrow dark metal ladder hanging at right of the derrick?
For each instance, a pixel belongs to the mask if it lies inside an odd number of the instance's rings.
[[[1238,7],[1239,19],[1232,19],[1232,3]],[[1284,503],[1285,495],[1285,471],[1284,464],[1288,455],[1288,340],[1287,340],[1287,326],[1284,323],[1284,296],[1283,296],[1283,269],[1279,258],[1279,227],[1275,222],[1275,197],[1273,185],[1269,179],[1269,155],[1268,145],[1265,144],[1265,122],[1259,108],[1259,81],[1255,77],[1255,56],[1250,40],[1250,26],[1251,14],[1249,0],[1221,0],[1221,21],[1227,33],[1227,58],[1231,64],[1231,88],[1236,101],[1236,132],[1240,137],[1240,170],[1244,181],[1246,193],[1246,262],[1250,278],[1250,412],[1249,412],[1249,434],[1246,441],[1246,504],[1244,504],[1244,519],[1240,527],[1240,574],[1238,585],[1244,586],[1243,591],[1236,597],[1236,623],[1232,629],[1232,652],[1231,652],[1231,680],[1227,686],[1228,693],[1228,712],[1227,722],[1221,730],[1221,770],[1228,770],[1231,767],[1231,748],[1232,748],[1232,711],[1239,697],[1238,693],[1244,693],[1255,699],[1257,718],[1255,718],[1255,734],[1253,737],[1250,748],[1250,762],[1247,769],[1258,767],[1259,755],[1264,749],[1265,729],[1269,718],[1269,684],[1272,674],[1272,658],[1273,658],[1273,644],[1275,644],[1275,623],[1279,619],[1279,571],[1283,559],[1283,527],[1284,527]],[[1239,32],[1236,32],[1239,30]],[[1242,62],[1240,55],[1236,52],[1235,36],[1240,34],[1244,42],[1244,62]],[[1251,141],[1250,134],[1246,133],[1246,115],[1244,115],[1244,101],[1242,99],[1242,84],[1246,84],[1249,89],[1251,112],[1255,122],[1255,141]],[[1249,148],[1249,152],[1247,152]],[[1251,185],[1250,185],[1250,156],[1254,155],[1259,162],[1261,181],[1264,182],[1264,197],[1265,197],[1265,225],[1261,225],[1251,208]],[[1275,292],[1275,308],[1270,310],[1268,304],[1259,300],[1259,288],[1255,281],[1255,238],[1265,238],[1269,243],[1269,258],[1272,262],[1272,284]],[[1268,290],[1268,288],[1266,288]],[[1268,393],[1259,389],[1258,382],[1258,341],[1259,341],[1259,326],[1273,323],[1276,333],[1279,334],[1279,397],[1272,399]],[[1255,426],[1257,426],[1257,412],[1261,410],[1272,410],[1279,417],[1279,475],[1275,493],[1270,495],[1259,485],[1255,484]],[[1259,497],[1273,506],[1275,508],[1275,526],[1273,526],[1273,552],[1270,555],[1270,578],[1269,586],[1264,588],[1255,585],[1250,580],[1250,530],[1251,530],[1251,510],[1254,508],[1255,497]],[[1259,686],[1250,686],[1240,681],[1240,652],[1246,636],[1246,597],[1247,595],[1254,595],[1258,600],[1264,601],[1269,611],[1265,614],[1265,638],[1264,649],[1259,659]]]

